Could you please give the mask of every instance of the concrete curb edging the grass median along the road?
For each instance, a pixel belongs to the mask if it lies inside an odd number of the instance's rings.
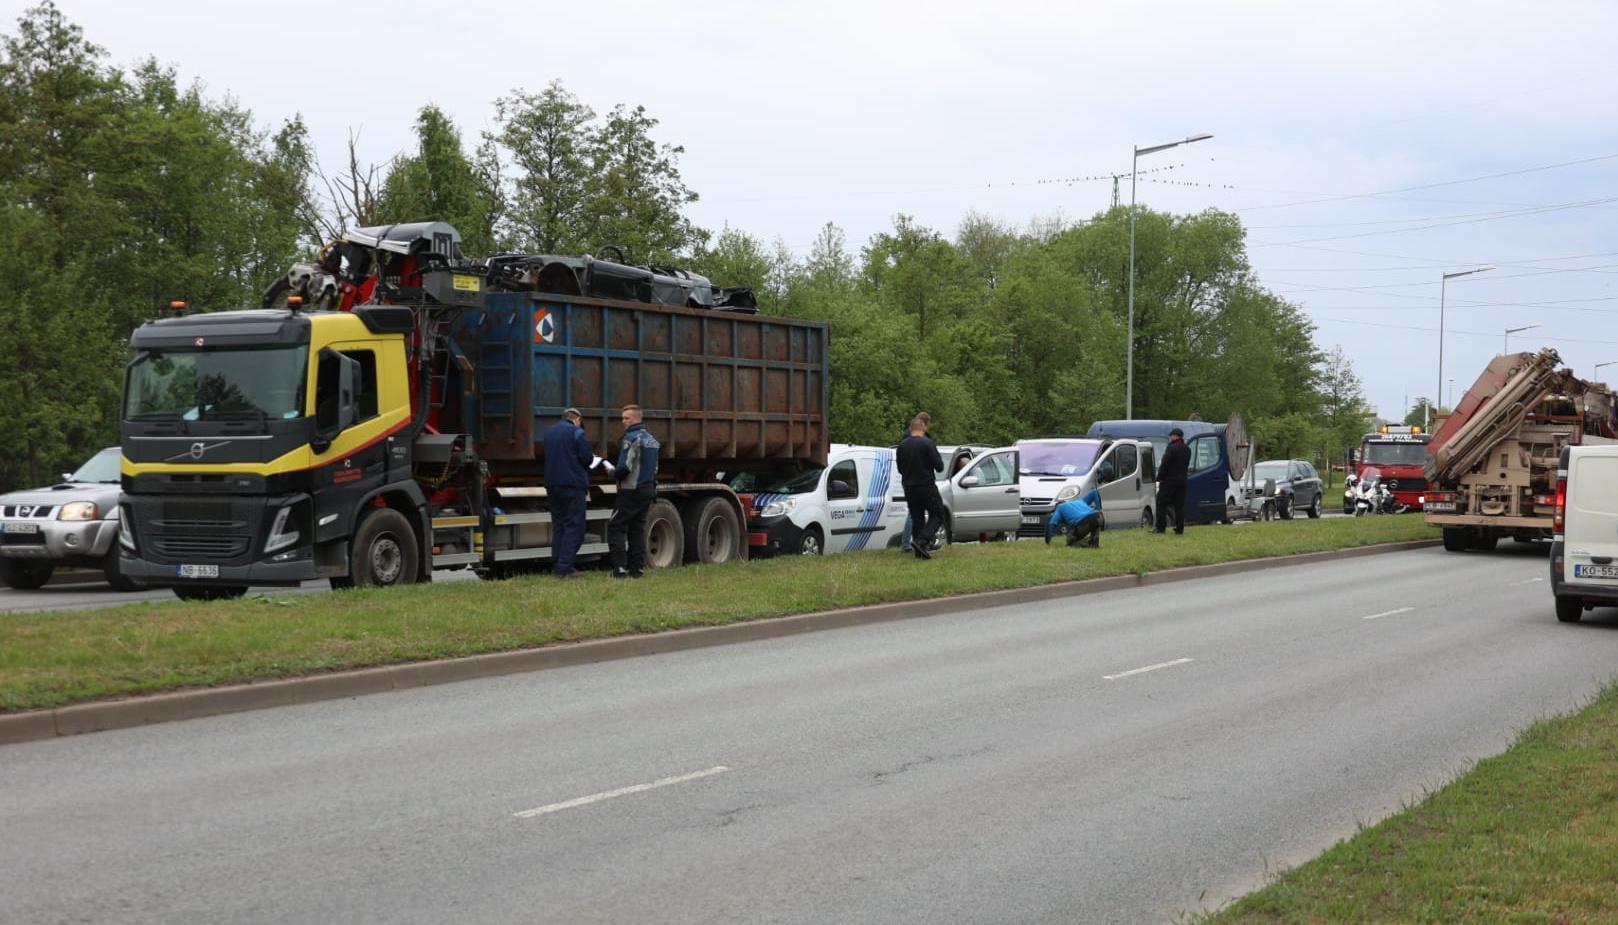
[[[1396,553],[1437,547],[1438,543],[1440,540],[1411,540],[1403,543],[1379,543],[1372,547],[1351,547],[1346,550],[1299,553],[1294,556],[1239,560],[1207,566],[1184,566],[1160,572],[1110,576],[1006,590],[985,590],[927,600],[872,603],[841,610],[825,610],[819,613],[762,618],[725,626],[699,626],[693,629],[671,629],[667,632],[642,636],[618,636],[584,642],[565,642],[539,648],[469,655],[464,658],[408,661],[403,665],[333,671],[328,674],[288,678],[283,681],[259,681],[251,684],[233,684],[228,687],[202,687],[173,694],[131,697],[126,700],[99,700],[92,703],[57,707],[52,710],[0,715],[0,745],[53,739],[57,736],[78,736],[81,733],[128,729],[133,726],[147,726],[152,723],[168,723],[175,720],[194,720],[199,716],[218,716],[222,713],[290,707],[293,703],[338,700],[343,697],[359,697],[362,694],[380,694],[383,691],[408,691],[411,687],[453,684],[456,681],[498,678],[502,674],[518,674],[524,671],[594,665],[597,661],[616,661],[620,658],[662,655],[667,652],[707,648],[710,645],[780,639],[803,632],[819,632],[822,629],[841,629],[848,626],[890,623],[919,616],[938,616],[945,613],[956,613],[959,610],[1036,603],[1133,587],[1196,581],[1212,576]]]

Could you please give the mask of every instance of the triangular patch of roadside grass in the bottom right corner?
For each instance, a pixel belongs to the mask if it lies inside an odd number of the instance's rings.
[[[1196,922],[1618,922],[1618,687]]]

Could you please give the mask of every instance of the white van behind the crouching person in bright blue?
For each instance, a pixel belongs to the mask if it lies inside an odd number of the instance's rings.
[[[1023,526],[1019,537],[1045,535],[1057,505],[1102,493],[1102,526],[1150,527],[1157,503],[1157,461],[1146,440],[1047,437],[1018,440]]]

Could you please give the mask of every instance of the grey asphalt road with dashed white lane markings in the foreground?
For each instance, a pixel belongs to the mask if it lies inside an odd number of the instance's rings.
[[[0,909],[1173,920],[1594,694],[1618,613],[1544,576],[1422,550],[8,745]]]

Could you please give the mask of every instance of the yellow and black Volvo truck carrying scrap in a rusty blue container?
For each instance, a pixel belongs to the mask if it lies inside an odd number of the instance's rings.
[[[744,558],[730,482],[825,464],[827,328],[759,315],[746,289],[599,257],[469,260],[453,226],[414,223],[346,233],[269,296],[286,293],[133,333],[123,574],[212,600],[536,569],[542,438],[568,408],[607,458],[620,408],[644,408],[663,448],[654,568]],[[607,551],[613,492],[591,488],[581,560]]]

